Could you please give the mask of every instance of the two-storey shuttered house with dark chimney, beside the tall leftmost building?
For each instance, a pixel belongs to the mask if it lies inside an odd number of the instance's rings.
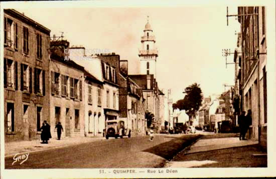
[[[68,58],[67,40],[51,40],[49,124],[52,136],[61,122],[64,136],[84,136],[84,67]]]

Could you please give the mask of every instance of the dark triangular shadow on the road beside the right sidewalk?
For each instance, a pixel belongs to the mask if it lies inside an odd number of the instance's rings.
[[[143,150],[145,152],[150,152],[159,155],[167,160],[171,160],[179,151],[183,150],[185,147],[189,146],[196,139],[200,138],[202,135],[183,135],[180,137],[169,137],[175,138],[170,141],[161,143],[159,145],[153,146]]]

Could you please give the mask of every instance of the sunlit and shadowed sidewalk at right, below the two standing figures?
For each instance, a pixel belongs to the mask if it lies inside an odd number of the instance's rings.
[[[199,139],[182,150],[165,167],[263,167],[267,159],[256,159],[252,154],[263,154],[257,140],[238,137]],[[257,162],[256,162],[257,161]]]

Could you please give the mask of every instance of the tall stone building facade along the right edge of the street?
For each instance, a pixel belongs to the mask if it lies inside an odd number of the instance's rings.
[[[248,137],[266,147],[266,10],[264,6],[238,7],[241,27],[242,110],[251,109]]]

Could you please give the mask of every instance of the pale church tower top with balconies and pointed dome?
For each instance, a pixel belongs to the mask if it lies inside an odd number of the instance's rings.
[[[141,74],[154,74],[156,78],[156,59],[158,50],[155,47],[155,35],[149,23],[149,16],[147,16],[147,23],[144,29],[144,36],[141,37],[142,48],[139,50],[140,57],[140,73]]]

